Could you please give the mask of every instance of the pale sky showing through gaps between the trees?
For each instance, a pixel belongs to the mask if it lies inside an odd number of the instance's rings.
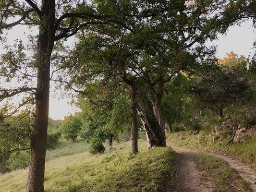
[[[31,29],[30,29],[31,30]],[[35,32],[35,31],[34,31]],[[13,27],[12,30],[8,32],[7,43],[13,44],[13,41],[17,38],[27,40],[27,34],[29,29],[21,26]],[[256,49],[253,49],[253,42],[256,40],[256,32],[252,26],[252,22],[248,21],[241,24],[241,26],[230,27],[226,35],[219,36],[218,40],[208,41],[207,45],[217,46],[217,57],[223,58],[226,53],[233,51],[234,53],[244,55],[249,57],[253,55]],[[73,39],[71,38],[68,42],[71,46]],[[3,52],[0,46],[0,54]],[[63,96],[63,90],[55,90],[54,83],[51,82],[50,90],[50,101],[49,101],[49,117],[58,120],[63,119],[64,116],[68,114],[73,114],[78,109],[70,104],[71,98]]]

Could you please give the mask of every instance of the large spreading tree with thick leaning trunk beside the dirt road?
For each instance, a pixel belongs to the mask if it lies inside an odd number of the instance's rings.
[[[253,2],[138,0],[97,3],[99,11],[108,9],[122,17],[139,17],[128,20],[125,26],[129,27],[98,25],[82,33],[72,51],[73,64],[70,65],[70,73],[80,73],[62,82],[68,82],[72,88],[77,86],[86,94],[83,86],[91,82],[91,77],[108,81],[112,87],[122,81],[129,96],[134,95],[148,147],[165,146],[160,109],[165,84],[176,73],[191,71],[196,65],[213,60],[214,49],[207,48],[205,41],[216,39],[218,33],[225,33],[233,24],[254,18]]]

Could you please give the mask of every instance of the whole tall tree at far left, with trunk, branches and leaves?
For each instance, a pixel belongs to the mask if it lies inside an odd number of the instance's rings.
[[[39,8],[40,7],[40,8]],[[10,21],[15,20],[13,23]],[[0,101],[17,95],[28,95],[18,108],[29,101],[35,103],[35,123],[31,135],[31,159],[29,166],[26,192],[43,192],[45,152],[49,114],[49,82],[51,55],[54,45],[61,40],[75,35],[80,29],[94,24],[121,22],[113,15],[99,15],[94,6],[85,2],[41,0],[1,0],[0,3],[0,34],[17,25],[27,25],[38,30],[37,36],[31,34],[30,48],[34,48],[33,57],[26,57],[24,47],[18,50],[9,49],[1,63],[1,78],[8,82],[18,78],[20,87],[0,88]],[[4,41],[4,37],[1,36]],[[54,63],[54,62],[52,62]],[[53,67],[53,72],[58,69]],[[37,84],[33,85],[33,78]],[[30,86],[31,85],[31,86]],[[15,109],[12,113],[15,113]]]

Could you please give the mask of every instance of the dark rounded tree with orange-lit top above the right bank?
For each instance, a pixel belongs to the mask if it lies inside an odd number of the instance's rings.
[[[201,71],[194,79],[190,92],[194,93],[195,105],[217,111],[224,117],[224,108],[234,102],[243,101],[248,81],[248,61],[244,57],[228,57],[220,60],[219,66]]]

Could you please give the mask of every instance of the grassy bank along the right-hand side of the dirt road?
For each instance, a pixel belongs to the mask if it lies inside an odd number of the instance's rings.
[[[247,138],[244,142],[234,142],[228,145],[227,139],[219,138],[213,142],[211,134],[201,131],[193,135],[190,131],[175,132],[168,135],[167,144],[190,149],[200,149],[226,153],[252,163],[256,166],[256,138]]]

